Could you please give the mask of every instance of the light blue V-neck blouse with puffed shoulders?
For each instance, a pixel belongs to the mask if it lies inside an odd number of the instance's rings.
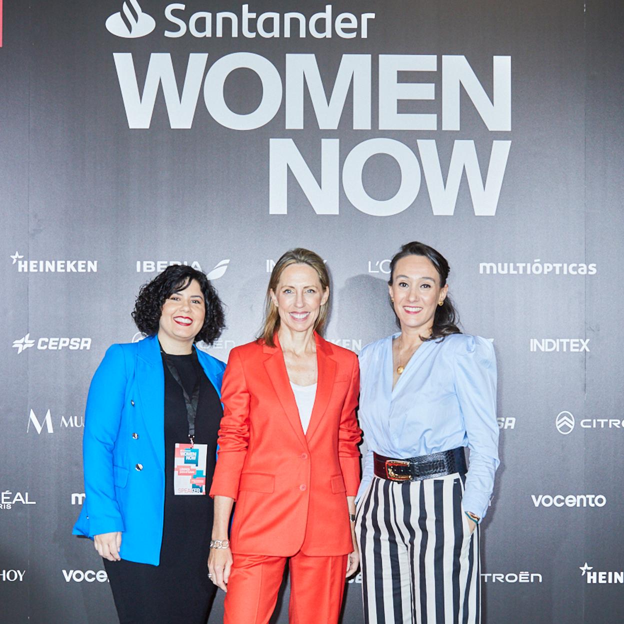
[[[359,354],[359,423],[368,444],[358,499],[373,479],[373,451],[404,459],[470,449],[464,509],[484,517],[499,466],[492,343],[451,334],[421,344],[392,389],[392,338]]]

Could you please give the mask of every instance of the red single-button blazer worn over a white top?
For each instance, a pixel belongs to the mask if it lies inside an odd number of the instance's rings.
[[[346,497],[359,485],[358,358],[314,338],[318,384],[305,435],[277,337],[275,347],[260,341],[230,353],[210,495],[236,500],[234,553],[353,551]]]

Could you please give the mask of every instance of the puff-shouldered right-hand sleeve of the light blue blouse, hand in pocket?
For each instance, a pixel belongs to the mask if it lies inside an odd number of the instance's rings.
[[[466,336],[462,341],[455,358],[455,388],[470,449],[463,505],[466,511],[483,518],[500,463],[496,357],[490,341],[479,336]]]

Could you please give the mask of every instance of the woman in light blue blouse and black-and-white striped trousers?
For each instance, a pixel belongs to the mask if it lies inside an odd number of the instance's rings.
[[[438,251],[403,245],[389,280],[401,331],[359,356],[366,624],[480,622],[479,523],[499,465],[496,361],[489,341],[457,328],[448,275]]]

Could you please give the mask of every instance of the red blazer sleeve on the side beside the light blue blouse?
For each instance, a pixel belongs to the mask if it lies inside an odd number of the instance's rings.
[[[358,427],[355,409],[358,407],[359,366],[358,358],[353,354],[351,383],[343,403],[338,429],[338,459],[343,473],[347,496],[355,496],[359,486],[359,450],[358,444],[362,432]]]

